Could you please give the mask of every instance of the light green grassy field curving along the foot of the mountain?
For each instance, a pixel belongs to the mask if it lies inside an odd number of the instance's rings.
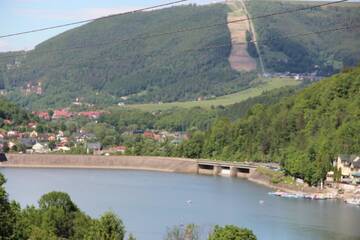
[[[274,78],[267,79],[266,82],[260,84],[256,87],[249,88],[234,94],[225,95],[221,97],[217,97],[210,100],[204,101],[187,101],[187,102],[172,102],[172,103],[161,103],[161,104],[133,104],[127,105],[125,108],[133,108],[140,109],[144,111],[157,111],[157,110],[166,110],[174,107],[180,108],[192,108],[192,107],[203,107],[210,108],[211,106],[219,106],[219,105],[230,105],[237,102],[244,101],[251,97],[256,97],[261,95],[261,93],[269,90],[273,90],[276,88],[284,87],[284,86],[295,86],[299,84],[299,81],[295,81],[290,78]]]

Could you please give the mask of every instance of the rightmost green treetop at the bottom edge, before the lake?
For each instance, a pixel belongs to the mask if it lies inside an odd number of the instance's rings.
[[[209,240],[256,240],[253,232],[246,228],[239,228],[233,225],[225,227],[215,226]]]

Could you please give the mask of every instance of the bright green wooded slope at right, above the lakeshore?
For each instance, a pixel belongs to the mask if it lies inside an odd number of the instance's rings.
[[[360,67],[269,106],[255,105],[235,123],[196,132],[182,155],[230,161],[276,161],[317,184],[337,154],[360,152]],[[196,150],[196,151],[195,151]]]

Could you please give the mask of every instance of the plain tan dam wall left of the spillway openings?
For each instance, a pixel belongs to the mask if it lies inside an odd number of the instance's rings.
[[[7,154],[0,167],[134,169],[163,172],[198,172],[196,160],[168,157]]]

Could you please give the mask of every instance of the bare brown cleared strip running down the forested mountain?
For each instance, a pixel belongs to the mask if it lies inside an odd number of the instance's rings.
[[[238,0],[229,0],[226,2],[231,12],[228,14],[228,21],[234,21],[246,18],[246,13]],[[256,60],[253,59],[247,52],[246,44],[239,44],[246,42],[246,31],[251,31],[248,21],[228,24],[231,34],[231,53],[229,62],[231,67],[236,71],[248,72],[256,70]]]

